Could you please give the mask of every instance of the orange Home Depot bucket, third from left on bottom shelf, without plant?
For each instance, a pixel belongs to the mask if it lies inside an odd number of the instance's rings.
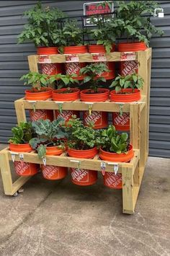
[[[76,158],[93,158],[97,148],[87,150],[68,149],[68,155]],[[89,169],[71,168],[71,181],[80,186],[89,186],[97,182],[97,172]]]

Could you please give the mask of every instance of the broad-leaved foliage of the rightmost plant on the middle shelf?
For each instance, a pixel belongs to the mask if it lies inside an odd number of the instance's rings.
[[[115,91],[118,93],[123,93],[122,89],[131,88],[134,89],[140,89],[143,87],[144,80],[141,76],[138,74],[130,74],[127,76],[120,76],[118,75],[114,81],[112,81],[112,84],[110,87],[115,87]]]

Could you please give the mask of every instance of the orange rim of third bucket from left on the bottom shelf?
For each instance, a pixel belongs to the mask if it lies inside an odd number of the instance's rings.
[[[93,158],[97,155],[98,150],[96,147],[93,149],[78,150],[78,149],[68,149],[68,156],[77,157],[77,158]]]

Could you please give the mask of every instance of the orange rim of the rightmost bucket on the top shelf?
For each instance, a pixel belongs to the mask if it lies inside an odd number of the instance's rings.
[[[139,43],[119,43],[118,51],[120,52],[128,52],[128,51],[138,51],[138,50],[146,50],[147,46],[143,42]]]

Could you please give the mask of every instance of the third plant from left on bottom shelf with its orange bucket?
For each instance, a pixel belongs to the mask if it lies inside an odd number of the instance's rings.
[[[68,133],[68,156],[79,159],[93,158],[97,154],[95,131],[83,125],[73,116],[66,125]],[[76,185],[93,185],[97,181],[97,172],[89,169],[71,168],[72,182]]]

